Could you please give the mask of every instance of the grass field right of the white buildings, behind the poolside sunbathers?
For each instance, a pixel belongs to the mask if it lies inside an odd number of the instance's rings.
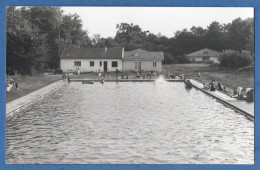
[[[254,70],[221,68],[210,64],[172,64],[163,65],[164,73],[179,75],[184,74],[202,83],[209,83],[212,79],[220,84],[234,89],[235,87],[254,88]],[[200,72],[200,77],[199,77]]]

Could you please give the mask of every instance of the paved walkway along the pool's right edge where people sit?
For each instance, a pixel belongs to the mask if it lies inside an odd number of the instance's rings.
[[[250,117],[254,118],[254,115],[255,115],[254,114],[254,102],[249,103],[244,100],[237,100],[236,98],[227,96],[226,94],[223,94],[219,91],[203,90],[202,89],[203,84],[201,84],[195,80],[191,80],[191,82],[194,86],[201,89],[205,93],[208,93],[208,94],[216,97],[217,99],[221,100],[222,102],[224,102],[230,106],[233,106],[237,110],[240,110],[240,111],[244,112],[245,114],[249,115]]]

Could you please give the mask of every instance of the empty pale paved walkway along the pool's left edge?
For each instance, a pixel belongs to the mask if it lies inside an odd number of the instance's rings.
[[[39,90],[36,90],[32,93],[29,93],[23,97],[20,97],[16,100],[13,100],[9,103],[6,104],[6,114],[10,114],[14,111],[19,110],[21,107],[26,106],[28,104],[30,104],[31,102],[37,100],[38,98],[46,95],[47,93],[56,90],[58,88],[60,88],[61,86],[65,85],[66,82],[65,81],[56,81],[48,86],[45,86]]]

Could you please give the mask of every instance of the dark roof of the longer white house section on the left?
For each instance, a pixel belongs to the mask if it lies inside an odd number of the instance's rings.
[[[122,59],[123,48],[65,48],[61,59]]]

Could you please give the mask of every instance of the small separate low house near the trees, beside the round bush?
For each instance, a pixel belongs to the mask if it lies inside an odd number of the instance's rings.
[[[208,63],[208,62],[213,62],[213,63],[219,63],[219,57],[221,53],[218,51],[214,51],[211,49],[202,49],[190,54],[186,55],[186,58],[190,62],[203,62],[203,63]]]

